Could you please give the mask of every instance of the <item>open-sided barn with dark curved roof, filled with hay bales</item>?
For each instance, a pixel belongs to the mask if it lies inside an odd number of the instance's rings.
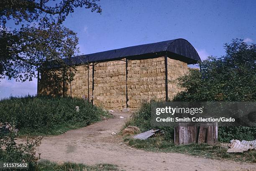
[[[172,99],[182,90],[176,79],[198,61],[197,51],[184,39],[76,56],[67,61],[77,71],[63,94],[105,109],[133,111],[150,99]],[[38,94],[51,94],[44,79],[38,79]]]

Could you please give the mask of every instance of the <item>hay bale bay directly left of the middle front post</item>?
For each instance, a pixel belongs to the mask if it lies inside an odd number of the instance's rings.
[[[95,64],[93,103],[105,109],[122,110],[126,106],[125,62]]]

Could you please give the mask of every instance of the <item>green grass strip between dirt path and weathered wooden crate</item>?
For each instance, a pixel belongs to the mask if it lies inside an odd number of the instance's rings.
[[[246,151],[243,153],[227,153],[227,149],[220,145],[209,146],[207,144],[190,144],[176,146],[173,141],[167,141],[161,136],[156,136],[146,140],[124,138],[124,141],[137,149],[154,152],[182,153],[192,156],[201,156],[210,159],[228,159],[233,161],[246,161],[256,163],[256,151]]]

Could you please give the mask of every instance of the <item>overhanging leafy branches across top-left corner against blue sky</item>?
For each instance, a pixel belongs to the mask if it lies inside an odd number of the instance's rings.
[[[51,3],[49,0],[1,0],[0,23],[5,25],[7,20],[14,20],[16,25],[22,21],[62,23],[77,7],[85,7],[92,12],[101,13],[97,1],[99,0],[60,0],[58,3]]]

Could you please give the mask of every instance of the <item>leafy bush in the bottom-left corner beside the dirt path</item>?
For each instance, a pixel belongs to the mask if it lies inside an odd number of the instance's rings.
[[[2,126],[5,126],[1,123]],[[4,162],[25,162],[33,170],[36,167],[40,155],[36,155],[36,147],[41,144],[43,137],[38,136],[31,140],[26,139],[25,144],[16,143],[16,133],[11,127],[8,133],[0,131],[0,161]]]

